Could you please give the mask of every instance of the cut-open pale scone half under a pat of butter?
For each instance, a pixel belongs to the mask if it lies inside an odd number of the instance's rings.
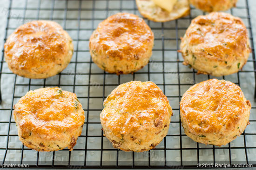
[[[178,0],[172,12],[155,5],[153,0],[136,0],[141,15],[155,22],[167,22],[185,17],[190,13],[189,0]]]

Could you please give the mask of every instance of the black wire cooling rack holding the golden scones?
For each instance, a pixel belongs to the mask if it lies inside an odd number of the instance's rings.
[[[243,19],[249,31],[252,53],[243,71],[218,77],[241,86],[252,103],[250,125],[228,145],[202,145],[183,132],[179,118],[179,101],[193,84],[214,78],[196,75],[195,70],[182,65],[177,52],[191,19],[202,13],[191,9],[188,17],[166,23],[146,22],[155,33],[155,46],[149,64],[133,75],[112,75],[103,72],[91,60],[88,43],[92,31],[108,16],[128,12],[138,14],[135,0],[10,0],[2,9],[7,16],[5,40],[15,28],[31,20],[49,19],[60,23],[74,40],[74,56],[61,74],[32,80],[13,75],[1,59],[0,76],[2,103],[0,105],[0,160],[2,167],[25,164],[28,168],[196,168],[196,164],[252,164],[256,167],[256,103],[255,51],[249,16],[248,0],[239,0],[228,11]],[[168,135],[151,151],[135,153],[118,151],[103,137],[99,114],[105,97],[119,84],[132,80],[153,81],[168,97],[173,108]],[[85,109],[86,121],[74,151],[33,151],[18,139],[13,120],[13,105],[28,90],[41,87],[61,87],[77,94]],[[13,165],[11,165],[13,167]],[[21,166],[20,166],[21,167]],[[201,167],[202,168],[202,167]]]

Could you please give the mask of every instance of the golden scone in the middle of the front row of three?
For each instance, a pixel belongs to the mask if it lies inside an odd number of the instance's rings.
[[[167,135],[172,108],[153,82],[127,82],[104,101],[101,125],[115,148],[148,151]]]

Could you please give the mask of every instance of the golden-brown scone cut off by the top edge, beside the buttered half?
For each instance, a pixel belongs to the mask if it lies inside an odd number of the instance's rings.
[[[235,7],[237,0],[189,0],[190,4],[204,12],[227,11]]]

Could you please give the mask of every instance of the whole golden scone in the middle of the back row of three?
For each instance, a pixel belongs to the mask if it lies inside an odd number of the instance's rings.
[[[90,38],[90,53],[101,69],[119,74],[133,73],[148,64],[154,34],[138,16],[117,13],[101,22]]]

